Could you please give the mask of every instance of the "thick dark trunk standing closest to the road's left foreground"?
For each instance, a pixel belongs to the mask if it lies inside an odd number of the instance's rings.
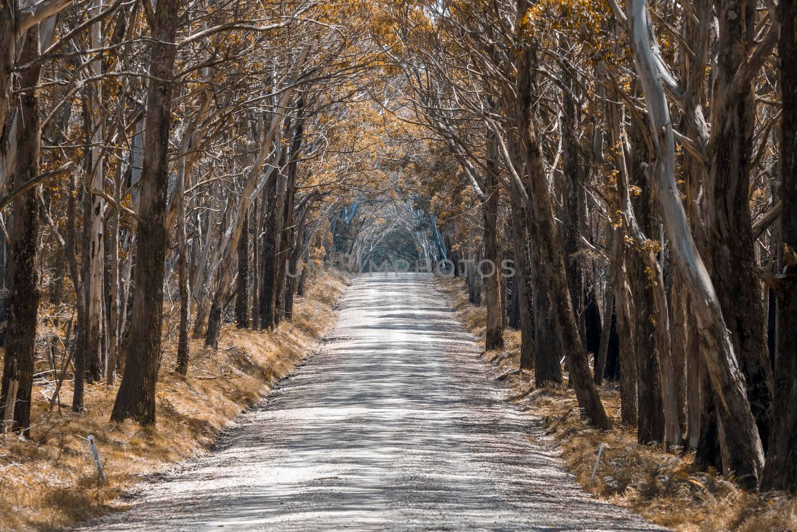
[[[179,0],[159,0],[150,49],[150,79],[145,118],[144,161],[136,227],[135,298],[127,357],[111,420],[128,418],[155,424],[155,382],[163,328],[163,278],[166,273],[166,200],[169,187],[169,129]]]

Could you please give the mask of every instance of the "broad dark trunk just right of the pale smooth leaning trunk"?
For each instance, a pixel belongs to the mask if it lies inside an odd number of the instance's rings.
[[[720,37],[712,101],[713,151],[703,209],[709,235],[706,268],[731,332],[750,409],[766,452],[772,422],[772,372],[764,338],[759,279],[753,271],[750,219],[750,161],[756,105],[752,84],[737,87],[736,81],[737,71],[748,61],[748,50],[755,39],[756,6],[747,0],[715,2],[715,6]],[[731,431],[728,435],[731,436]]]

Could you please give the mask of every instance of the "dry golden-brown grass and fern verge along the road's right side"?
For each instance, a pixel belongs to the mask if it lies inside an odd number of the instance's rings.
[[[461,279],[440,280],[461,321],[474,334],[485,333],[486,309],[468,302]],[[505,333],[505,349],[485,353],[501,374],[520,366],[520,333]],[[797,531],[797,499],[740,490],[716,471],[692,471],[693,453],[672,454],[637,443],[635,428],[620,424],[620,397],[614,383],[601,397],[614,424],[611,431],[591,428],[579,413],[570,388],[534,387],[532,376],[517,373],[506,382],[513,400],[544,421],[538,443],[561,449],[561,459],[579,483],[599,499],[624,506],[658,525],[681,531]],[[599,443],[603,456],[591,480]]]

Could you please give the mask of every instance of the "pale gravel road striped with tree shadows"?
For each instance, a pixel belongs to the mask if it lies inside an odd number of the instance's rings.
[[[657,530],[588,497],[428,276],[360,276],[218,451],[84,530]]]

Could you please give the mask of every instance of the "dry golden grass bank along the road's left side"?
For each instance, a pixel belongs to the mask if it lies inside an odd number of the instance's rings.
[[[139,483],[141,475],[206,451],[230,420],[312,349],[330,325],[332,307],[345,286],[340,278],[317,279],[307,297],[296,301],[292,323],[281,323],[273,333],[228,325],[218,351],[191,341],[187,377],[171,371],[176,354],[167,332],[155,427],[110,422],[116,390],[104,384],[87,387],[84,414],[61,408],[53,416],[41,388],[34,387],[31,439],[0,435],[0,530],[61,528],[124,510],[128,503],[120,495]],[[65,388],[62,400],[70,404],[71,388]],[[89,434],[96,436],[108,476],[101,487],[84,439]]]

